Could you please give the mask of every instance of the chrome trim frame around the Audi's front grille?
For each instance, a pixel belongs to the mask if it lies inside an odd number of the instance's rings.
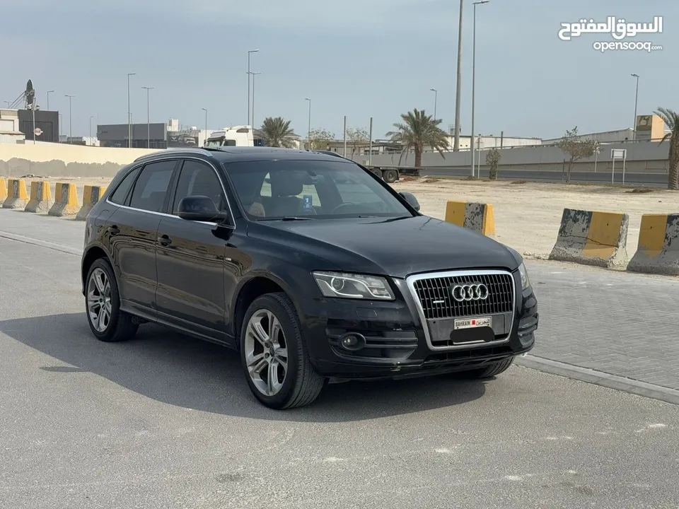
[[[415,283],[417,281],[422,281],[422,279],[436,279],[436,278],[452,278],[457,276],[492,276],[492,275],[509,275],[511,279],[511,321],[509,323],[509,333],[503,339],[497,339],[497,341],[486,341],[484,343],[477,344],[463,344],[454,346],[434,346],[431,342],[431,334],[429,333],[429,323],[424,315],[424,308],[422,308],[422,302],[419,300],[417,294],[417,288],[415,288]],[[511,333],[514,327],[514,318],[516,317],[516,283],[514,281],[514,276],[511,271],[507,270],[460,270],[460,271],[445,271],[445,272],[427,272],[425,274],[415,274],[413,276],[408,276],[405,282],[410,291],[410,296],[414,300],[415,307],[417,308],[417,315],[419,315],[419,321],[422,323],[422,329],[424,330],[424,339],[426,339],[426,345],[429,346],[431,351],[451,351],[451,350],[463,350],[463,349],[474,349],[483,348],[485,346],[496,346],[499,344],[504,344],[509,341]]]

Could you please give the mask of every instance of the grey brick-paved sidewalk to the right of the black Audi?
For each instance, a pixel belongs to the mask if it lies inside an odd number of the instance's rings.
[[[528,260],[531,355],[679,390],[679,278]]]

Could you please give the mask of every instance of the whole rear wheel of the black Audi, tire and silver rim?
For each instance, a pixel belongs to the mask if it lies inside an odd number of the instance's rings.
[[[85,287],[87,321],[100,341],[126,341],[137,334],[132,315],[120,310],[115,273],[108,260],[100,258],[90,267]]]

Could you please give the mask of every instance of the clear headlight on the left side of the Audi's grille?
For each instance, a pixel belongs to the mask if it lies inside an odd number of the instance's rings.
[[[313,272],[313,279],[325,297],[394,300],[389,283],[382,277]]]

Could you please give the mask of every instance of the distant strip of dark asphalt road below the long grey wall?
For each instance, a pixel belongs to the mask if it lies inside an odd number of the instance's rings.
[[[468,177],[469,168],[430,166],[420,170],[420,175],[427,177]],[[481,177],[488,178],[488,170],[481,169]],[[528,180],[528,182],[565,182],[561,172],[540,170],[500,170],[499,180]],[[611,181],[608,172],[572,172],[573,184],[616,184],[622,185],[622,171],[615,172],[615,180]],[[625,173],[625,185],[639,187],[667,187],[666,173]]]

